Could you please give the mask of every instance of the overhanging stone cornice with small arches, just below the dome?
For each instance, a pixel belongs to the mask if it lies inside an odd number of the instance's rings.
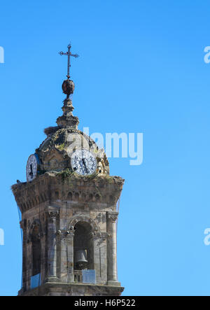
[[[34,181],[30,183],[15,184],[12,186],[15,200],[22,213],[34,208],[43,203],[51,203],[53,198],[52,192],[59,192],[59,197],[62,197],[62,202],[66,201],[69,190],[71,192],[72,202],[81,203],[97,203],[97,195],[99,192],[95,188],[100,190],[100,201],[106,203],[108,206],[114,206],[120,197],[120,192],[123,189],[124,180],[120,177],[109,177],[109,178],[94,178],[84,184],[84,179],[78,179],[71,177],[72,185],[69,188],[69,183],[62,183],[59,174],[45,173],[41,176],[37,176]],[[112,183],[112,186],[110,184]],[[81,195],[82,193],[82,195]],[[79,197],[78,197],[78,195]],[[52,196],[51,196],[52,195]]]

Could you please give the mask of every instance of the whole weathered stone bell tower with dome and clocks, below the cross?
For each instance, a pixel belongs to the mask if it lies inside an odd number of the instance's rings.
[[[27,182],[12,186],[22,213],[19,295],[118,296],[116,205],[124,180],[73,116],[70,76],[63,115],[27,162]]]

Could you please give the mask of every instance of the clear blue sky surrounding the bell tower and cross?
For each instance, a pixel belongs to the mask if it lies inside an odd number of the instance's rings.
[[[71,41],[74,115],[90,132],[143,132],[144,163],[111,159],[126,179],[118,222],[124,295],[210,295],[209,1],[1,1],[0,295],[21,282],[10,185],[62,115]]]

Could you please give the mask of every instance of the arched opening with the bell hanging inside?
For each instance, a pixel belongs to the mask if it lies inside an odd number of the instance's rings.
[[[74,226],[73,269],[83,270],[93,267],[92,227],[89,223],[78,222]]]

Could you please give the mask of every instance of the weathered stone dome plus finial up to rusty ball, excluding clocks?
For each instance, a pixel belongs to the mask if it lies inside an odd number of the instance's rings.
[[[69,88],[68,88],[69,87]],[[73,172],[71,167],[71,155],[75,150],[89,150],[97,160],[96,174],[109,175],[109,162],[104,149],[98,148],[97,144],[80,130],[78,130],[78,117],[73,116],[73,105],[69,94],[73,93],[74,83],[72,80],[64,80],[62,85],[67,94],[62,107],[63,115],[57,118],[56,127],[48,127],[44,130],[47,138],[36,149],[38,155],[39,174],[48,171]]]

